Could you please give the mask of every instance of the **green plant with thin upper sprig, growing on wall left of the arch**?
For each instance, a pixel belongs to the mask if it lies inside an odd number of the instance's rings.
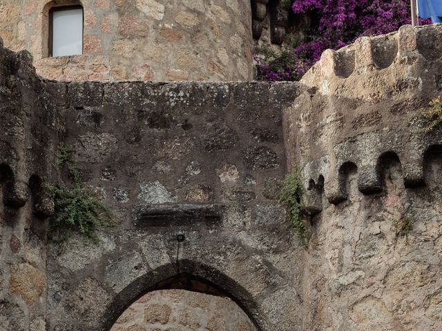
[[[55,217],[50,221],[49,238],[61,242],[77,232],[97,241],[95,230],[100,226],[113,225],[113,213],[97,192],[81,183],[74,154],[73,146],[59,146],[57,169],[60,172],[67,169],[70,182],[61,181],[56,187],[48,187],[55,201]]]

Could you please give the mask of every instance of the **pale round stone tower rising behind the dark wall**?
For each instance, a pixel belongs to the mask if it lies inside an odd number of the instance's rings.
[[[81,3],[84,53],[48,57],[48,12]],[[79,81],[253,78],[250,0],[1,0],[0,37],[37,74]]]

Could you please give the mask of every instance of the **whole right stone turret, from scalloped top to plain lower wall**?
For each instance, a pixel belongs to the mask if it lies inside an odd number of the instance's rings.
[[[306,330],[440,330],[442,28],[403,26],[327,50],[286,112],[312,237]],[[405,237],[394,223],[408,217]]]

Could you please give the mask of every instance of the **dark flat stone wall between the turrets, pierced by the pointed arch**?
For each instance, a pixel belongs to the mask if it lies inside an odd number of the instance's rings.
[[[284,257],[300,248],[275,201],[282,108],[296,86],[58,83],[62,141],[121,224],[102,232],[103,248],[50,246],[49,330],[106,330],[177,273],[220,286],[262,330],[299,325],[296,266]],[[187,236],[179,247],[177,230]],[[278,309],[284,323],[271,318]]]

